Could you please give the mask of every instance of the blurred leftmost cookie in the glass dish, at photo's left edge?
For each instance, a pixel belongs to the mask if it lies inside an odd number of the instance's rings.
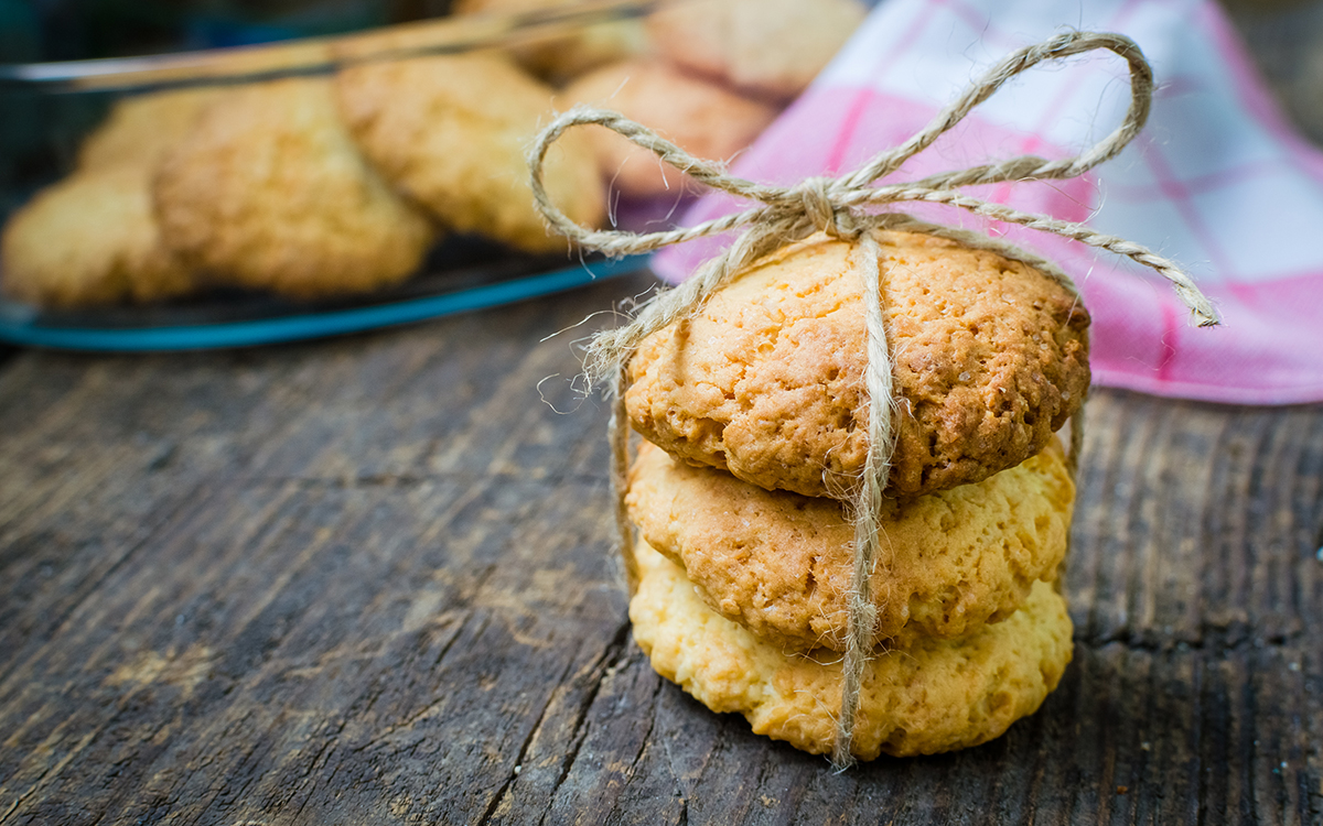
[[[127,164],[78,172],[40,192],[0,238],[0,285],[40,307],[147,303],[193,288],[161,243],[148,172]]]

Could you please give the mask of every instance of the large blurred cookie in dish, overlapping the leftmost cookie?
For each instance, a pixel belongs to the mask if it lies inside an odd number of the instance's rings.
[[[320,78],[255,83],[209,106],[161,159],[153,198],[187,262],[299,299],[402,282],[435,238],[355,148]]]

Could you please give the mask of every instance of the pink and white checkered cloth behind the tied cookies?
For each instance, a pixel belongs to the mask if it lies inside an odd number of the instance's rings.
[[[1191,326],[1164,282],[1109,252],[958,209],[905,209],[1005,234],[1058,262],[1093,313],[1099,385],[1216,402],[1323,400],[1323,152],[1283,120],[1212,0],[884,0],[734,172],[792,184],[853,169],[922,128],[1008,52],[1064,26],[1139,44],[1159,82],[1147,128],[1084,178],[971,194],[1084,221],[1181,262],[1224,325]],[[1125,78],[1125,62],[1102,52],[1032,69],[889,180],[1073,155],[1121,123]],[[733,206],[704,197],[684,223]],[[712,250],[710,241],[665,250],[655,270],[681,280]]]

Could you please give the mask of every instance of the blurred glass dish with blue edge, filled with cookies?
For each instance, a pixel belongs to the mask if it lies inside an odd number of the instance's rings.
[[[863,7],[837,1],[843,41]],[[729,159],[831,56],[823,38],[810,38],[822,54],[761,56],[777,26],[795,29],[799,4],[454,11],[257,46],[0,66],[0,340],[245,346],[638,270],[546,234],[523,159],[537,130],[601,104]],[[693,197],[617,136],[582,132],[548,167],[572,217],[655,229]]]

